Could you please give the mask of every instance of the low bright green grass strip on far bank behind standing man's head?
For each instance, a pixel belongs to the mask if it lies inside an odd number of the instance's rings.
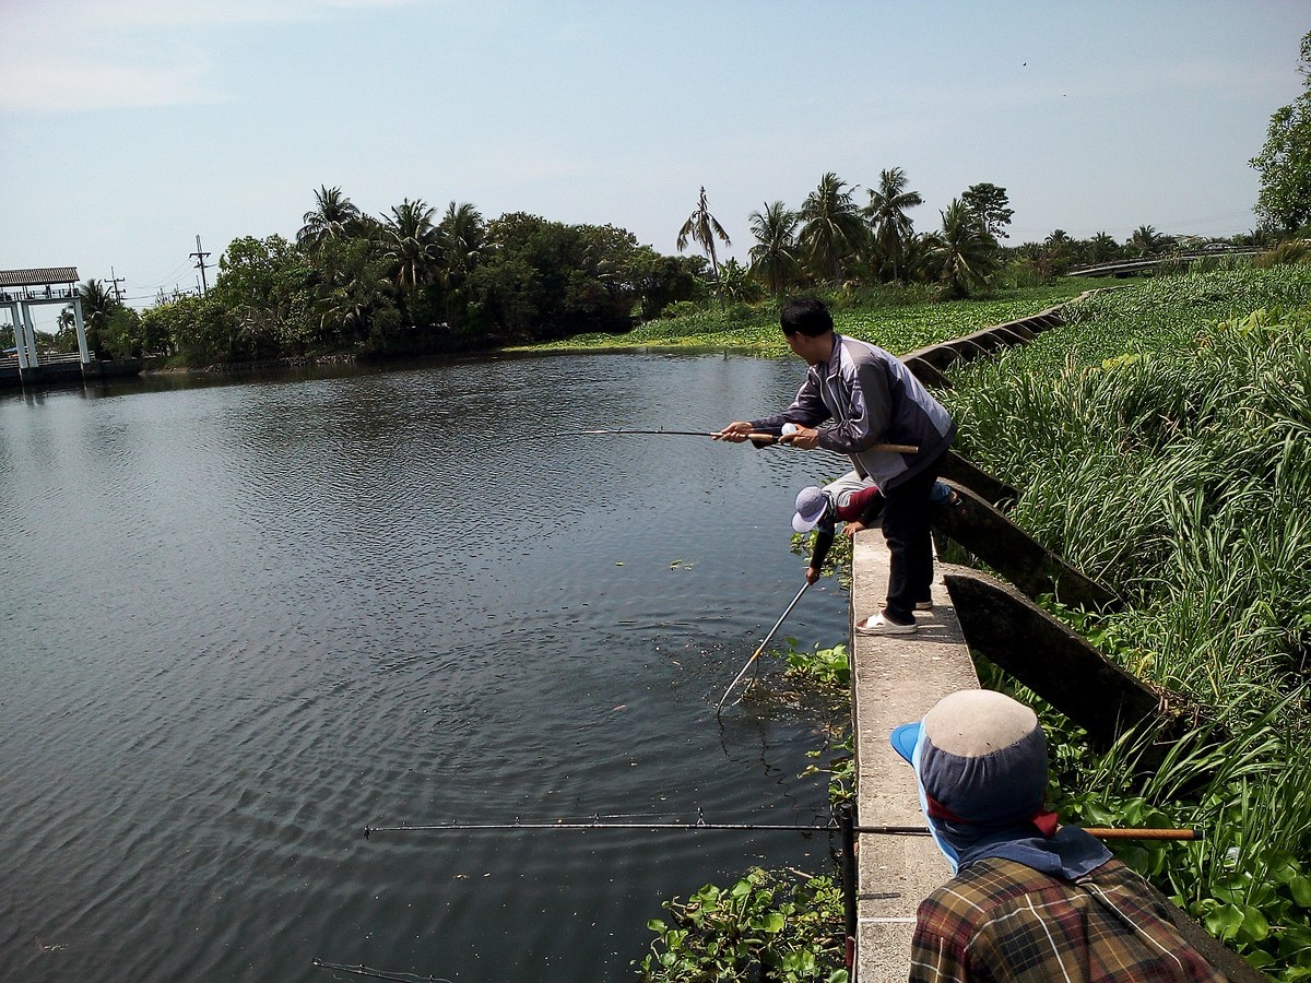
[[[831,305],[838,332],[903,354],[958,338],[981,328],[1036,315],[1106,280],[1061,279],[1042,287],[1000,291],[983,300],[931,301],[916,291],[886,291],[851,304]],[[535,345],[532,351],[730,351],[745,355],[788,355],[779,330],[779,303],[755,307],[707,307],[678,317],[641,324],[624,334],[581,334]]]

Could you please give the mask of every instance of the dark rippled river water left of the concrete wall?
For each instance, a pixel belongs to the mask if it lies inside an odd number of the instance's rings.
[[[827,835],[361,834],[826,822],[798,777],[819,712],[713,705],[801,586],[797,488],[844,461],[547,435],[709,430],[801,372],[552,357],[0,396],[0,978],[632,979],[662,899],[830,869]],[[781,634],[834,645],[846,611],[826,579]]]

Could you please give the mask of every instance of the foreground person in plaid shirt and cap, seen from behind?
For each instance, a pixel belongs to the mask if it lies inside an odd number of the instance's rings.
[[[1091,835],[1042,807],[1037,714],[964,689],[891,734],[952,879],[926,898],[911,983],[1226,980],[1176,928],[1168,903]]]

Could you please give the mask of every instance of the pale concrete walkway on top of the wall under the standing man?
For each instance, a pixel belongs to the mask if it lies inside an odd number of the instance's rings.
[[[882,531],[856,535],[852,550],[852,693],[856,747],[857,826],[924,826],[915,776],[888,735],[923,717],[943,696],[978,687],[978,676],[935,570],[933,609],[918,615],[915,634],[867,637],[855,621],[878,611],[888,586]],[[950,877],[947,860],[927,836],[859,838],[856,978],[898,980],[910,973],[915,908]]]

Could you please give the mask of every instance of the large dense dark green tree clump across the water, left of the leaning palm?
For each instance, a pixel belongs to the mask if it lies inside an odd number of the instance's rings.
[[[409,198],[372,218],[326,186],[302,222],[294,242],[233,240],[206,294],[160,296],[140,316],[83,284],[92,346],[193,364],[456,353],[621,332],[704,292],[704,260],[661,256],[614,225],[488,222],[456,202],[438,215]]]

